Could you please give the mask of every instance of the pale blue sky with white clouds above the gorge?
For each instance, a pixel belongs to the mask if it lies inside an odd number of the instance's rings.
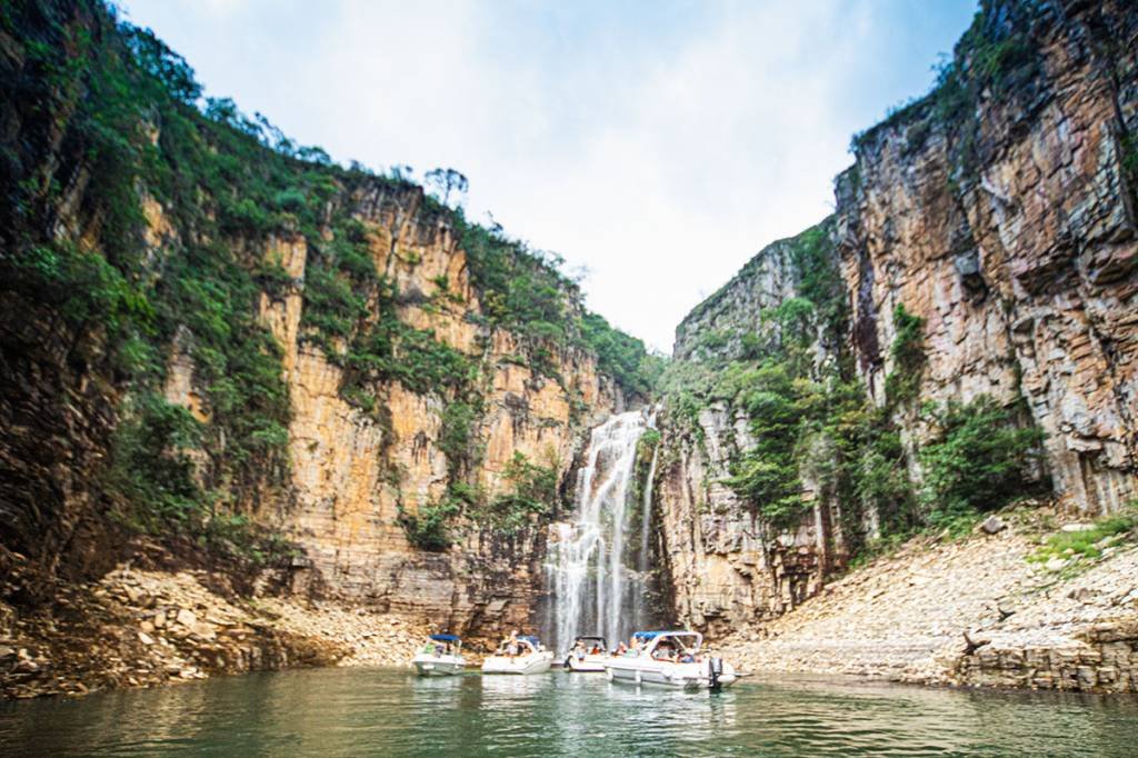
[[[850,137],[927,91],[975,0],[119,0],[333,159],[470,180],[468,217],[584,273],[670,353],[773,240],[833,211]]]

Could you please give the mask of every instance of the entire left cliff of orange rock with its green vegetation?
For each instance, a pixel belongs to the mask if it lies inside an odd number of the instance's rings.
[[[203,101],[102,3],[6,5],[0,66],[5,636],[139,535],[241,592],[529,624],[640,340],[555,258]]]

